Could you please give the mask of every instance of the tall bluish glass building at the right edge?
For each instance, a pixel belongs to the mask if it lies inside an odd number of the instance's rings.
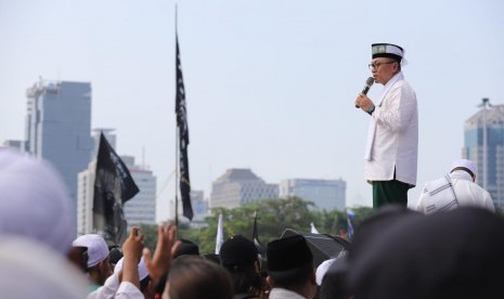
[[[462,157],[476,164],[476,183],[492,196],[495,207],[504,208],[504,105],[490,105],[465,122]]]

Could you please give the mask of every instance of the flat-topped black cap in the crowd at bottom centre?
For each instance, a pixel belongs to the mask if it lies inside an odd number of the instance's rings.
[[[275,239],[268,244],[268,271],[289,271],[313,263],[313,255],[302,235]]]

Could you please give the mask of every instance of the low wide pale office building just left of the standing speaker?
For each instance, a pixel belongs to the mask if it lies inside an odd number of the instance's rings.
[[[339,180],[290,179],[280,183],[280,197],[297,196],[320,209],[345,210],[347,183]]]

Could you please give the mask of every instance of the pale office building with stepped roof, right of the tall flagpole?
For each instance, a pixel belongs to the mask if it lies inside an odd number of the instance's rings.
[[[279,197],[279,185],[268,184],[250,169],[228,169],[212,183],[210,209],[236,208],[244,204]]]

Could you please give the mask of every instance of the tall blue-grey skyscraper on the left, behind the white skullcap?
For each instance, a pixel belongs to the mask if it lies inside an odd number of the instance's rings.
[[[70,193],[76,219],[77,173],[91,159],[91,84],[40,79],[26,91],[25,151],[49,160]]]

